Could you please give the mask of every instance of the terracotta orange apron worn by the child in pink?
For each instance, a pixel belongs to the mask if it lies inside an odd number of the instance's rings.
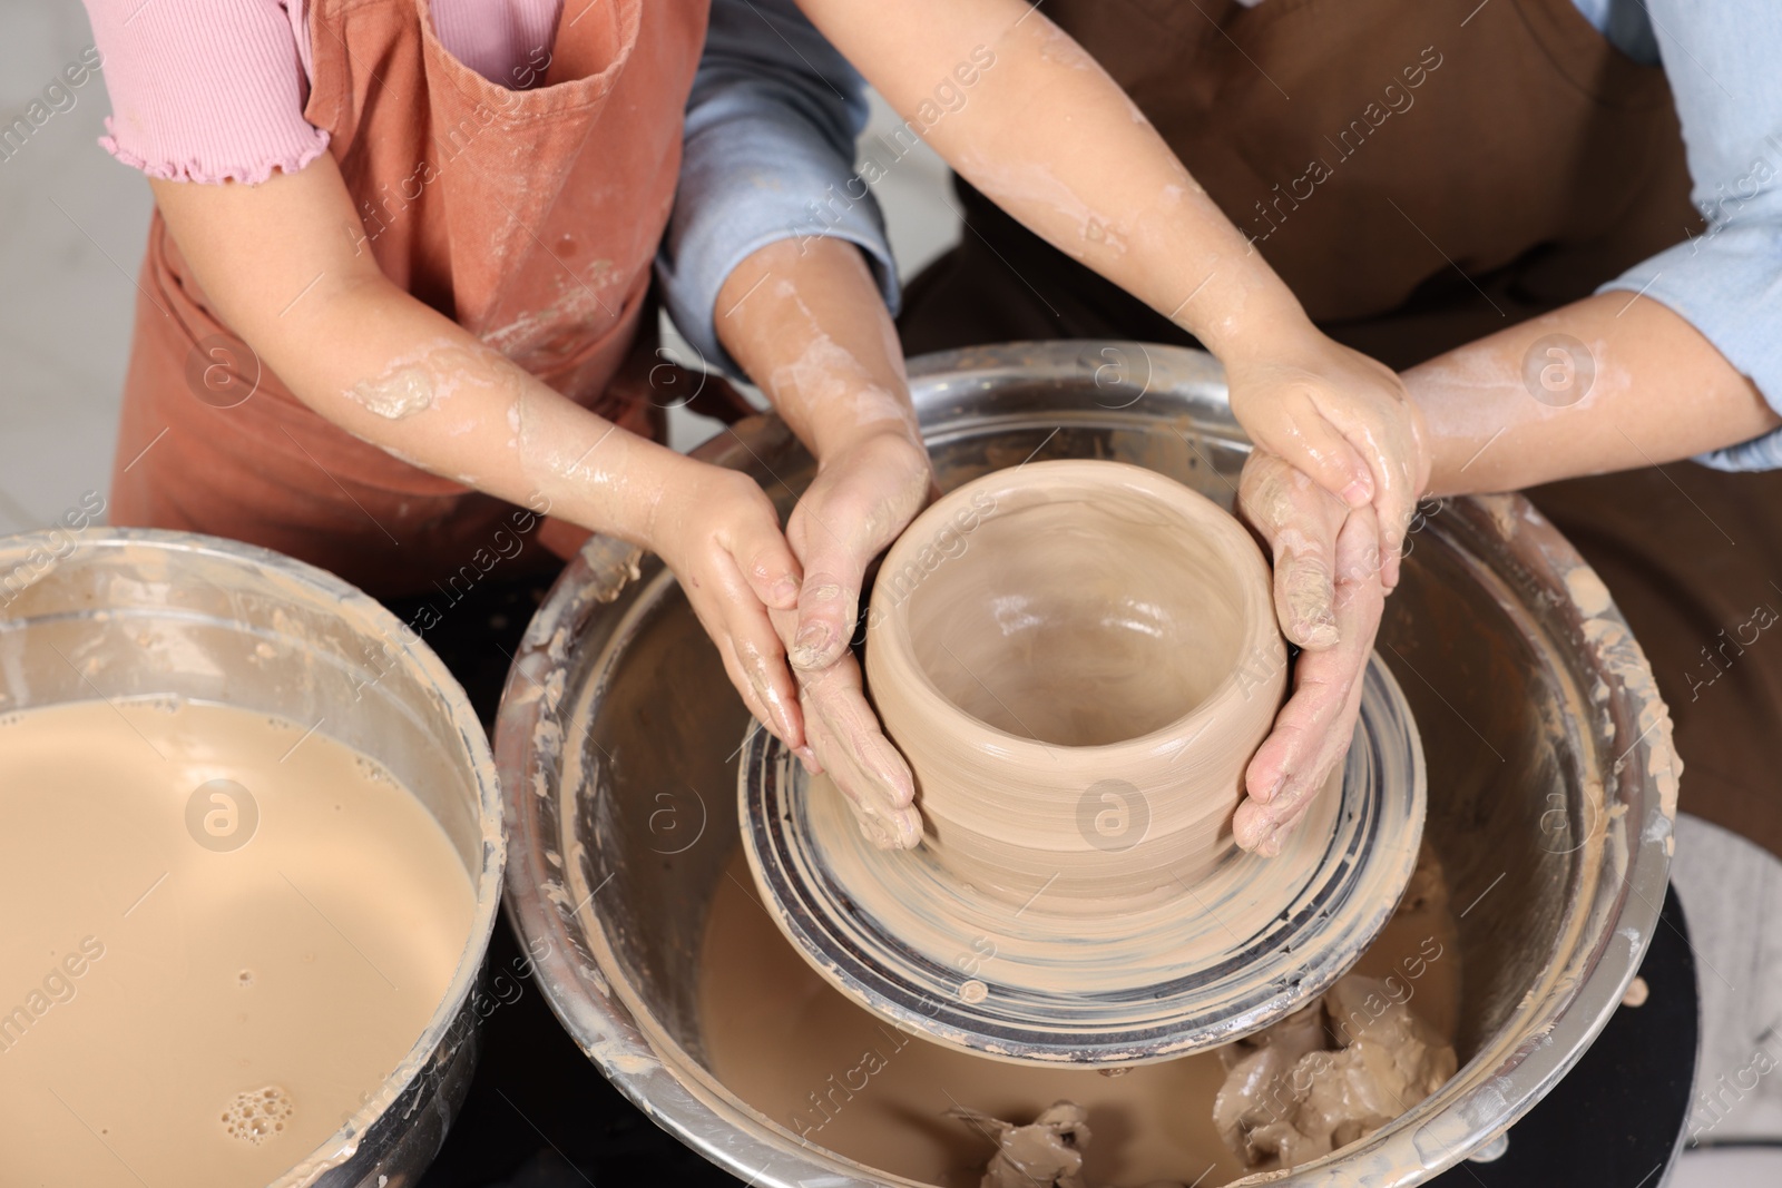
[[[305,118],[331,137],[360,246],[394,283],[643,435],[661,427],[650,264],[706,7],[567,4],[531,91],[458,62],[426,0],[314,0],[310,12]],[[159,214],[139,289],[114,524],[267,545],[394,595],[536,520],[301,404],[217,319]],[[556,552],[584,536],[556,520],[538,529]]]

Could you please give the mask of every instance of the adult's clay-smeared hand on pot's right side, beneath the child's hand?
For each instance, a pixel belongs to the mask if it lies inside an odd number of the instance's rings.
[[[1238,846],[1272,857],[1349,753],[1385,604],[1381,545],[1372,508],[1347,508],[1262,449],[1244,465],[1238,506],[1274,554],[1281,632],[1303,648],[1231,823]]]

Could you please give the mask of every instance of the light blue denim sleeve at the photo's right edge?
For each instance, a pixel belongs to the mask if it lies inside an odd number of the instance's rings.
[[[1600,292],[1663,301],[1782,411],[1782,5],[1645,5],[1682,121],[1691,198],[1707,230]],[[1782,431],[1698,461],[1720,470],[1782,468]]]

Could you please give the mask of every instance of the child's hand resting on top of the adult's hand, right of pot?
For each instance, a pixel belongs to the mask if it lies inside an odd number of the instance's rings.
[[[1399,554],[1429,481],[1424,415],[1388,367],[1306,324],[1267,349],[1224,358],[1231,411],[1249,438],[1349,508],[1372,504],[1379,577],[1399,584]],[[1294,643],[1288,607],[1281,625]],[[1320,620],[1329,622],[1329,620]]]

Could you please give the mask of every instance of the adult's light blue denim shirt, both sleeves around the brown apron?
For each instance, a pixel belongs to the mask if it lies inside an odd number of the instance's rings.
[[[1574,0],[1634,61],[1663,62],[1707,230],[1602,287],[1663,301],[1782,410],[1782,2]],[[864,84],[793,0],[713,0],[688,100],[686,150],[658,273],[668,312],[706,362],[718,289],[752,251],[832,235],[859,244],[886,305],[896,265],[854,173]],[[1682,228],[1679,228],[1682,233]],[[1689,399],[1679,392],[1677,399]],[[1782,467],[1782,431],[1702,458]]]

